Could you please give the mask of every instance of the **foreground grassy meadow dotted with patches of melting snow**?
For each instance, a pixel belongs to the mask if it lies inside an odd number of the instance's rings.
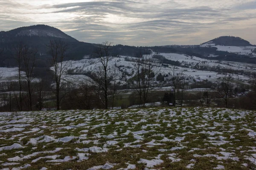
[[[256,113],[219,108],[0,113],[0,169],[256,165]]]

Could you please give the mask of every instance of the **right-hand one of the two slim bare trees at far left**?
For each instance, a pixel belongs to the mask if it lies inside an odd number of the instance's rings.
[[[26,85],[27,85],[27,94],[29,98],[29,111],[32,111],[32,81],[35,78],[34,77],[34,69],[35,69],[35,56],[37,54],[36,49],[29,49],[27,46],[24,46],[23,48],[23,54],[22,54],[22,59],[23,59],[23,66],[24,66],[24,72],[25,76],[23,76],[23,79],[26,80]]]

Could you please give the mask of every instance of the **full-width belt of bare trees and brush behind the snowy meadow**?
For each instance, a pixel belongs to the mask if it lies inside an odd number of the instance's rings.
[[[42,75],[44,78],[38,78],[38,50],[20,42],[14,49],[18,74],[0,83],[0,111],[147,107],[155,102],[174,107],[254,107],[255,79],[250,80],[251,87],[245,87],[234,79],[232,69],[225,69],[216,83],[191,82],[186,71],[177,67],[178,63],[173,63],[168,74],[161,74],[161,63],[155,59],[163,58],[153,56],[147,48],[138,48],[133,54],[133,69],[123,87],[119,68],[110,65],[118,56],[114,46],[108,41],[97,46],[93,54],[98,59],[97,67],[81,80],[70,76],[73,71],[72,62],[67,59],[69,44],[61,39],[50,40],[46,45],[49,68]],[[168,82],[169,89],[157,90],[155,87],[163,82]],[[124,97],[122,89],[127,88],[131,94]]]

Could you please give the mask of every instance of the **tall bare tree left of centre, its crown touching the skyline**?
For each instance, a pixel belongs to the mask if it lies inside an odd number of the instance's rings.
[[[105,41],[99,45],[99,48],[96,51],[96,57],[99,59],[99,65],[97,65],[93,70],[93,81],[89,80],[90,83],[95,86],[99,100],[102,105],[104,105],[105,109],[108,109],[110,86],[112,85],[112,82],[116,81],[116,77],[112,74],[116,68],[110,63],[115,57],[115,55],[111,54],[112,44],[112,42]]]

